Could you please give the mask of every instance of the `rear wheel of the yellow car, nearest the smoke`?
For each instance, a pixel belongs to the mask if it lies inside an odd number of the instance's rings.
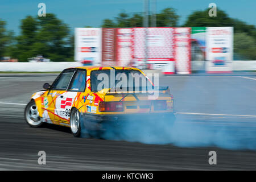
[[[81,135],[81,117],[80,117],[79,111],[76,108],[73,108],[71,110],[70,127],[71,127],[71,133],[75,137],[80,137],[80,135]]]

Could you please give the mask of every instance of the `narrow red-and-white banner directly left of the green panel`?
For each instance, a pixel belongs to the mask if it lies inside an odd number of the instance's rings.
[[[175,28],[175,67],[177,74],[191,74],[191,28]]]

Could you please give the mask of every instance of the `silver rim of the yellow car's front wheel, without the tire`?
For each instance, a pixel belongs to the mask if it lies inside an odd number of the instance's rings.
[[[36,126],[41,123],[41,118],[39,116],[38,107],[36,104],[31,104],[26,110],[26,119],[30,125]]]

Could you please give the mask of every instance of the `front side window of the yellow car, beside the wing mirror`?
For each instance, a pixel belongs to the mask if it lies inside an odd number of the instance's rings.
[[[66,90],[68,88],[68,84],[73,76],[74,71],[67,71],[61,73],[60,77],[53,83],[53,90]]]

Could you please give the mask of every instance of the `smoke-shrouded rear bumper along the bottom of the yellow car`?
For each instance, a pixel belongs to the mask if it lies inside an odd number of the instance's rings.
[[[175,113],[136,113],[136,114],[115,114],[102,115],[92,113],[81,113],[84,126],[88,130],[105,130],[104,126],[118,126],[125,122],[143,122],[145,125],[150,121],[175,121]]]

